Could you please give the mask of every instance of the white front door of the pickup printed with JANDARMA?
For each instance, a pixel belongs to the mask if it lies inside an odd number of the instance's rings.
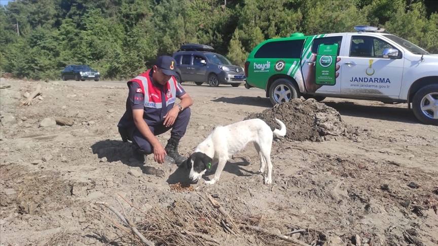
[[[363,33],[349,34],[342,58],[341,93],[364,97],[398,98],[402,87],[402,52],[382,38]],[[386,48],[398,57],[384,58]]]

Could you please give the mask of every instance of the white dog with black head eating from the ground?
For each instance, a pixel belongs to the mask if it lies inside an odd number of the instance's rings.
[[[218,163],[213,179],[205,181],[214,184],[221,177],[225,163],[229,158],[245,148],[249,142],[253,142],[260,157],[260,170],[263,173],[266,164],[268,175],[264,183],[272,183],[271,147],[273,134],[279,137],[286,135],[286,126],[281,120],[276,119],[281,129],[275,129],[259,118],[236,122],[228,126],[216,127],[210,135],[200,143],[195,151],[187,159],[187,168],[190,170],[189,178],[197,182],[211,166]]]

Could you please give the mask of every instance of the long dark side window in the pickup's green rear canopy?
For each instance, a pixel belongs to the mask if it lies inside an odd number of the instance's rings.
[[[254,54],[254,58],[301,58],[304,40],[284,40],[266,43]]]

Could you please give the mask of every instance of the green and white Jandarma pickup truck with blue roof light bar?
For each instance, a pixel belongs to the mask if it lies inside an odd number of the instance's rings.
[[[408,103],[424,124],[438,125],[438,54],[383,28],[268,39],[245,62],[247,89],[272,104],[325,97]]]

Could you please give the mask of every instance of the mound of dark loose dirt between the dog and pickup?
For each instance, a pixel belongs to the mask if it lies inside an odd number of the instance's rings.
[[[329,136],[351,136],[355,132],[341,118],[339,112],[315,99],[294,99],[286,103],[253,113],[245,119],[260,118],[279,128],[275,118],[286,125],[286,138],[295,141],[321,142]]]

